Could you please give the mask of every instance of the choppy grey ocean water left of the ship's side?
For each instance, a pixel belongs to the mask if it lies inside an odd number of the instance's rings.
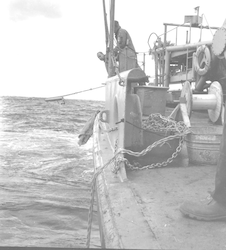
[[[0,246],[85,247],[92,138],[78,135],[103,102],[0,97]],[[94,206],[90,247],[100,248]]]

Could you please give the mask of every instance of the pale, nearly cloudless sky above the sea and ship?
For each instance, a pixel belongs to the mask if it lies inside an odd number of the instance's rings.
[[[109,12],[109,0],[106,5]],[[222,26],[225,2],[219,0],[115,0],[115,19],[129,32],[136,51],[147,53],[152,32],[162,34],[163,23],[183,24],[197,6],[199,15],[204,14],[203,25]],[[105,52],[102,0],[0,0],[0,34],[1,96],[61,96],[98,88],[107,79],[104,63],[96,56]],[[179,30],[179,43],[185,42],[185,34],[186,29]],[[202,40],[212,40],[212,34],[206,30]],[[169,39],[174,42],[175,33]],[[192,33],[192,42],[198,40],[199,34]],[[147,55],[146,73],[153,72]],[[68,98],[102,101],[105,90]]]

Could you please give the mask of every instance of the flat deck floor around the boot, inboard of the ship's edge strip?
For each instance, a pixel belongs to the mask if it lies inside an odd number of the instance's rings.
[[[186,201],[208,202],[215,166],[188,166],[178,158],[160,169],[127,171],[131,189],[160,249],[222,249],[226,222],[200,222],[179,211]]]

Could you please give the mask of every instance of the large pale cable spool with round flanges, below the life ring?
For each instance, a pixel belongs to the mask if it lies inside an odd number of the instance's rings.
[[[215,81],[211,84],[208,94],[192,94],[190,82],[186,81],[181,97],[186,99],[188,115],[192,110],[208,110],[209,118],[213,123],[221,118],[223,91],[219,82]]]

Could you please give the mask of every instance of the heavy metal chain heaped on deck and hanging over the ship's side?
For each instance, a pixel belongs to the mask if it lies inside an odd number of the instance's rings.
[[[101,122],[99,120],[99,122]],[[101,124],[100,127],[102,128]],[[87,242],[86,247],[89,248],[90,246],[90,238],[91,238],[91,228],[92,228],[92,215],[93,215],[93,204],[94,204],[94,195],[95,195],[95,186],[96,186],[96,179],[99,176],[102,171],[113,164],[112,172],[117,174],[121,163],[124,162],[131,170],[143,170],[143,169],[153,169],[157,167],[165,167],[167,164],[171,163],[173,159],[177,157],[179,152],[182,149],[184,139],[187,134],[190,133],[190,129],[183,123],[183,122],[176,122],[174,120],[171,120],[167,117],[163,117],[160,114],[152,114],[149,116],[148,120],[144,121],[142,124],[142,127],[144,129],[147,129],[149,131],[155,131],[155,132],[169,132],[175,133],[173,135],[169,135],[167,137],[164,137],[153,144],[149,145],[146,149],[142,150],[141,152],[133,152],[128,149],[119,149],[118,148],[118,139],[115,141],[115,155],[112,157],[106,164],[104,164],[102,167],[99,167],[98,170],[95,172],[92,178],[91,182],[91,203],[89,207],[89,214],[88,214],[88,229],[87,229]],[[107,132],[107,131],[105,131]],[[168,141],[174,140],[179,138],[179,145],[176,148],[176,151],[172,154],[170,158],[168,158],[166,161],[163,161],[162,163],[153,163],[151,165],[147,166],[141,166],[139,163],[134,163],[133,165],[130,164],[130,162],[124,158],[124,154],[129,154],[135,157],[142,157],[146,155],[148,152],[150,152],[154,147],[162,146],[163,144],[167,143]]]

